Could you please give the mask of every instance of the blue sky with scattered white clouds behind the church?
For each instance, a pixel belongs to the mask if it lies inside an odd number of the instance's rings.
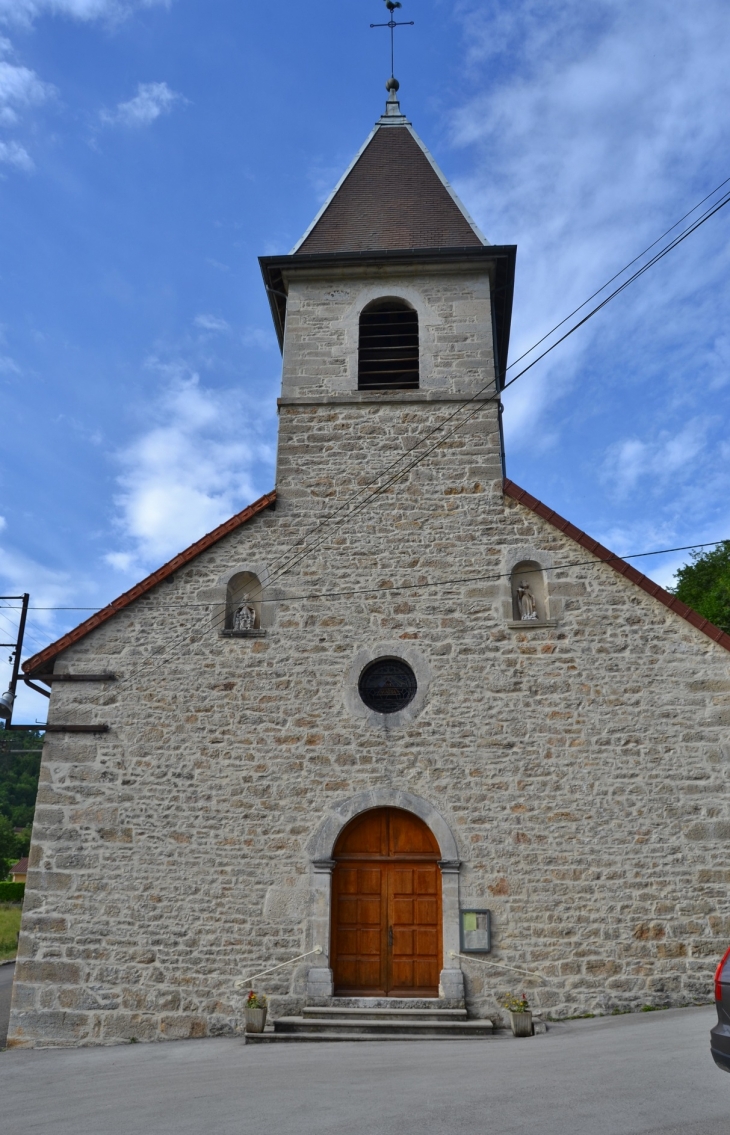
[[[272,486],[257,257],[380,114],[385,16],[0,0],[3,591],[102,605]],[[512,356],[730,176],[725,0],[400,16],[404,111],[518,245]],[[730,207],[505,397],[509,474],[616,552],[730,537],[729,236]],[[639,565],[668,582],[683,558]],[[32,612],[26,655],[79,617]],[[16,720],[44,712],[24,690]]]

